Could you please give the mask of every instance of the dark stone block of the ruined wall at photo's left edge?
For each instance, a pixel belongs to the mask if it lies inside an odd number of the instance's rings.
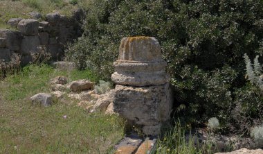
[[[19,31],[0,29],[0,37],[6,39],[6,48],[12,51],[19,51],[22,35]]]

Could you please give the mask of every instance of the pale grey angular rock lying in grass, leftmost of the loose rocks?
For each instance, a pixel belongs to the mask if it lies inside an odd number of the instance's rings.
[[[32,96],[30,99],[33,103],[41,103],[44,106],[48,106],[52,104],[51,94],[39,93]]]

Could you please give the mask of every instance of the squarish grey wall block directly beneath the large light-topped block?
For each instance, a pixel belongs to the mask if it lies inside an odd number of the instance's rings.
[[[24,36],[21,43],[21,53],[23,55],[29,55],[30,53],[37,53],[40,45],[39,37],[35,36]]]

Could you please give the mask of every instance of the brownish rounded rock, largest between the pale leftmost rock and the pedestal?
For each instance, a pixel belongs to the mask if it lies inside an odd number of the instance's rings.
[[[84,90],[92,89],[94,86],[94,83],[92,83],[89,80],[75,80],[71,82],[69,85],[69,89],[71,89],[72,92],[82,92]]]

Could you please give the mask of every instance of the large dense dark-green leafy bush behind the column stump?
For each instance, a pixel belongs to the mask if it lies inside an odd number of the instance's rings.
[[[168,62],[175,106],[186,106],[177,114],[195,124],[217,117],[224,130],[262,122],[263,95],[244,78],[243,55],[263,54],[263,1],[96,0],[86,9],[69,60],[110,80],[120,40],[153,36]]]

